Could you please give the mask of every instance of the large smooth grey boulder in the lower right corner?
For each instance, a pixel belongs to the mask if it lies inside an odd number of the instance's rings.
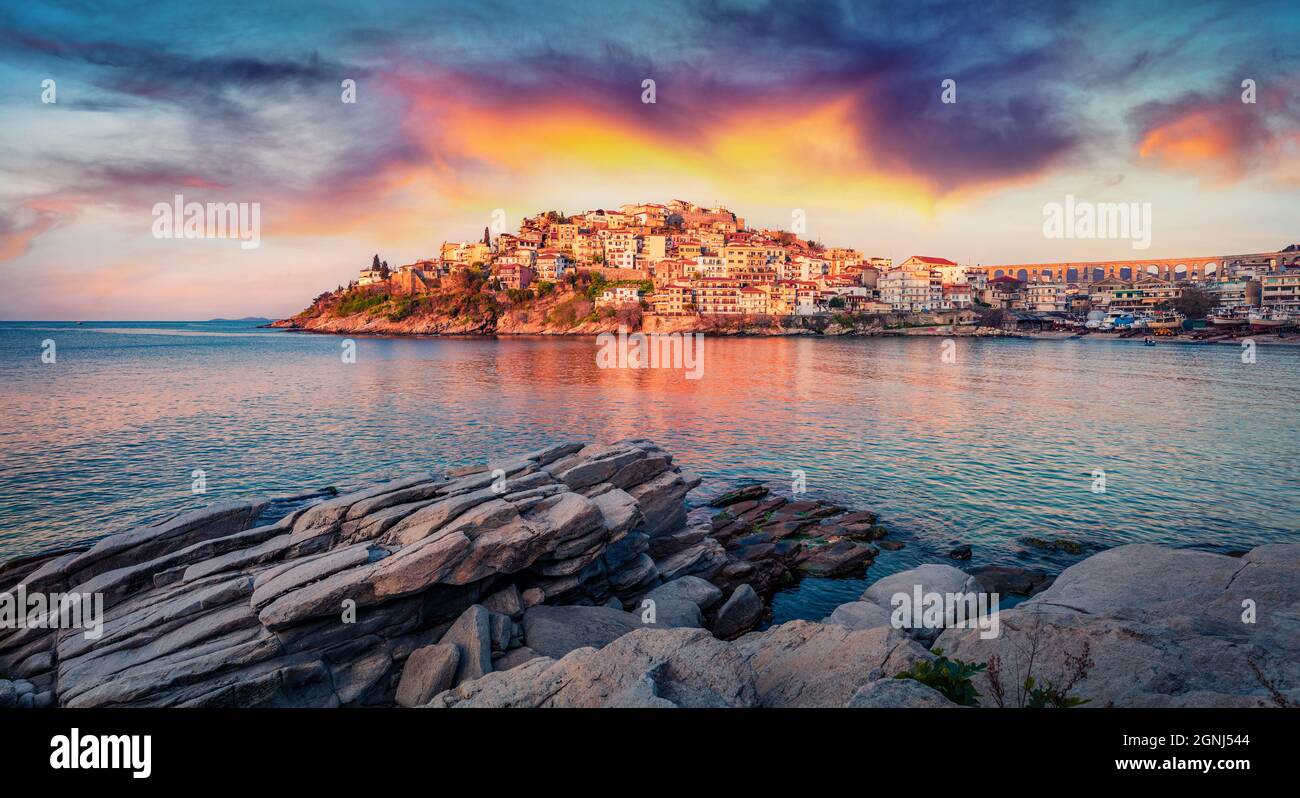
[[[1268,707],[1300,703],[1300,543],[1240,559],[1131,545],[1096,554],[1000,613],[1000,634],[949,629],[945,655],[997,668],[982,704],[1020,706],[1034,676],[1088,706]],[[1032,664],[1030,651],[1035,652]]]

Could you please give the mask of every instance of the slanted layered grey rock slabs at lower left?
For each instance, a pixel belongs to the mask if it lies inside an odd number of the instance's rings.
[[[416,651],[451,638],[454,680],[476,678],[523,646],[528,604],[656,586],[649,541],[682,528],[696,483],[629,441],[417,474],[260,526],[264,502],[214,504],[6,564],[0,591],[98,594],[104,628],[5,629],[0,673],[62,706],[391,704]],[[432,673],[408,699],[446,667],[417,662]]]

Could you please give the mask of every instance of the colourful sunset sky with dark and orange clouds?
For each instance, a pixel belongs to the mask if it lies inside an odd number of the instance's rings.
[[[497,211],[670,199],[896,263],[1273,251],[1297,40],[1294,0],[14,4],[0,318],[282,317]],[[157,237],[178,194],[259,246]],[[1149,203],[1150,247],[1046,237],[1067,196]]]

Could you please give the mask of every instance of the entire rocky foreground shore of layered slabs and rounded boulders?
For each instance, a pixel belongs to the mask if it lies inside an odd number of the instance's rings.
[[[775,591],[897,543],[870,512],[762,485],[688,512],[698,483],[649,441],[566,443],[4,563],[0,593],[96,594],[104,613],[98,639],[0,629],[0,707],[970,703],[926,676],[946,658],[976,665],[980,706],[1300,701],[1300,545],[1123,546],[1054,581],[926,564],[755,632]],[[1030,598],[987,637],[896,628],[890,595],[913,590]]]

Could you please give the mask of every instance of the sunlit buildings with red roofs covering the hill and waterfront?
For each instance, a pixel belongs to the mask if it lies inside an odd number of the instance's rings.
[[[728,208],[681,199],[538,213],[517,233],[485,230],[482,240],[443,243],[438,257],[391,277],[364,269],[354,285],[429,291],[439,277],[469,268],[502,289],[589,272],[606,281],[597,305],[644,302],[663,316],[932,315],[979,307],[1082,315],[1167,307],[1193,285],[1223,305],[1300,307],[1296,246],[1240,256],[1008,266],[914,255],[896,265],[794,233],[750,229]]]

